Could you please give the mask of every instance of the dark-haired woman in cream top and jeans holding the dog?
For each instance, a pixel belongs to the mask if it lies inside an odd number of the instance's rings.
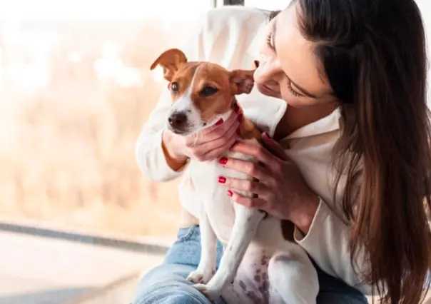
[[[255,81],[265,96],[238,101],[268,131],[266,148],[232,149],[262,165],[220,159],[258,182],[227,178],[226,195],[295,224],[297,242],[318,269],[318,304],[366,303],[363,293],[370,291],[385,303],[419,303],[431,264],[424,208],[431,153],[425,34],[415,2],[293,0],[268,26],[265,18],[246,8],[212,11],[186,51],[189,59],[229,69],[261,56]],[[136,153],[153,180],[184,174],[181,192],[187,159],[219,157],[238,122],[230,117],[198,136],[202,141],[175,136],[163,131],[164,94]],[[242,198],[238,190],[258,198]],[[136,304],[209,303],[184,279],[200,247],[190,214],[198,202],[181,203],[188,211],[183,229],[163,264],[141,280]]]

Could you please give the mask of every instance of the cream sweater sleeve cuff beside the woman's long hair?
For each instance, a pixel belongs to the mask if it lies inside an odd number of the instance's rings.
[[[356,265],[359,267],[358,273],[366,269],[365,259],[360,255],[358,264],[350,259],[350,226],[335,215],[324,201],[320,199],[307,235],[295,228],[295,240],[325,273],[340,278],[365,295],[372,293],[371,286],[362,283],[355,272]]]

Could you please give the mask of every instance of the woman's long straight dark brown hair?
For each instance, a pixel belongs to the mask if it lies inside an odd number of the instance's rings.
[[[322,74],[341,101],[334,159],[352,260],[365,249],[371,268],[360,275],[383,303],[420,303],[431,268],[425,210],[431,126],[420,11],[413,0],[294,1],[300,29],[315,42]]]

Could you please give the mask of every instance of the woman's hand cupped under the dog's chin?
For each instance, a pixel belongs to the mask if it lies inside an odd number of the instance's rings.
[[[238,110],[239,111],[239,110]],[[220,119],[213,126],[189,136],[181,136],[171,131],[163,131],[163,150],[167,161],[186,163],[187,158],[198,161],[209,161],[220,157],[233,146],[237,139],[237,129],[240,126],[240,113],[233,111],[226,121]],[[167,154],[167,155],[166,155]],[[176,168],[174,168],[176,169]]]

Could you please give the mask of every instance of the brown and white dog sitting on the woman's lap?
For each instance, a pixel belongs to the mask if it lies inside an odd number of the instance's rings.
[[[162,66],[170,84],[172,106],[166,129],[187,136],[226,120],[232,111],[242,111],[235,95],[250,93],[254,70],[228,71],[218,64],[188,62],[178,49],[165,51],[151,66]],[[260,131],[243,118],[238,141],[260,144]],[[228,152],[229,158],[252,160],[250,156]],[[252,160],[255,161],[255,160]],[[201,261],[188,280],[213,299],[230,290],[229,304],[313,304],[318,294],[318,276],[307,253],[295,244],[293,229],[254,208],[232,201],[218,176],[251,177],[221,166],[217,160],[189,163],[191,180],[201,210]],[[209,178],[208,178],[209,176]],[[250,196],[249,193],[241,193]],[[216,242],[225,248],[215,272]]]

